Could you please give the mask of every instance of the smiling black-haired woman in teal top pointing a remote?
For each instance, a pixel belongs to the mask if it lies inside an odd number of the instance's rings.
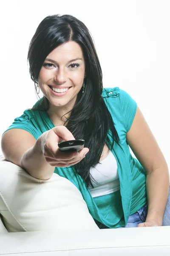
[[[86,26],[71,15],[46,17],[28,61],[44,96],[3,134],[6,159],[39,179],[55,172],[71,180],[99,228],[169,225],[167,163],[136,102],[119,87],[103,89]],[[74,139],[85,148],[59,151]]]

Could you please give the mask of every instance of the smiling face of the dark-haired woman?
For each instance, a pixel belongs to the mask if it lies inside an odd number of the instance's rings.
[[[79,44],[69,41],[46,57],[38,78],[50,107],[72,108],[85,77],[85,60]]]

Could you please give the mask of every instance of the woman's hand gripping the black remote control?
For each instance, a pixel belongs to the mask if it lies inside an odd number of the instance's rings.
[[[41,138],[40,138],[41,137]],[[41,151],[51,166],[66,167],[79,163],[88,153],[88,148],[79,152],[60,151],[58,143],[62,140],[75,140],[73,134],[65,126],[56,126],[40,136]]]

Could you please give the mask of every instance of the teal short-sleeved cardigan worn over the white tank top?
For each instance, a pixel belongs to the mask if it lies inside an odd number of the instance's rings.
[[[82,177],[75,173],[74,166],[56,167],[54,172],[77,186],[94,219],[110,228],[116,228],[125,226],[129,215],[147,203],[146,173],[139,161],[130,154],[126,142],[126,134],[130,130],[136,113],[136,102],[119,87],[104,88],[102,97],[111,113],[120,139],[119,144],[114,142],[111,150],[117,161],[120,190],[109,195],[92,198]],[[54,128],[54,124],[47,112],[26,110],[23,115],[14,119],[7,130],[12,128],[24,129],[37,140],[43,132]],[[113,142],[110,132],[108,132],[108,139],[110,143]]]

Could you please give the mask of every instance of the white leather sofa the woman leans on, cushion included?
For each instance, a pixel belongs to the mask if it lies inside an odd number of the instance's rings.
[[[99,230],[79,190],[0,157],[0,255],[170,256],[170,227]]]

